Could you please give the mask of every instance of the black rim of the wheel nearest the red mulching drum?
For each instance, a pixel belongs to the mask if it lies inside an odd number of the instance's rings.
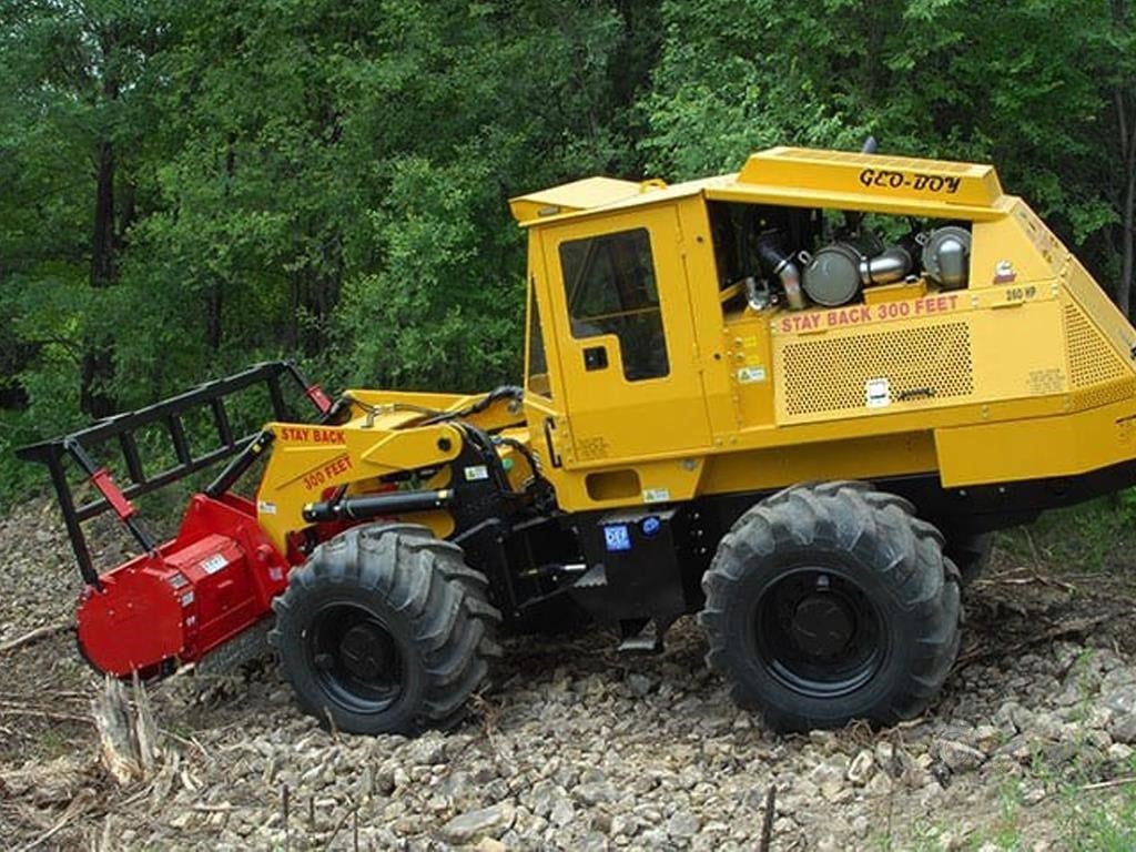
[[[384,621],[354,603],[328,603],[308,630],[311,670],[327,696],[353,713],[381,713],[402,695],[406,660]]]

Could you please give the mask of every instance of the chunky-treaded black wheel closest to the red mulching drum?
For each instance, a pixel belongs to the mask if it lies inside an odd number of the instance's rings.
[[[296,703],[352,734],[452,727],[500,655],[485,576],[416,525],[354,527],[325,542],[273,609],[268,640]]]

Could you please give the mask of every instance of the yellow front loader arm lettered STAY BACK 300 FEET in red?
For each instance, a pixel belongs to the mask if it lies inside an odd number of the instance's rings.
[[[484,483],[519,494],[535,473],[518,449],[526,443],[517,440],[523,418],[513,389],[476,395],[353,390],[342,399],[350,415],[339,426],[266,426],[275,441],[257,515],[281,552],[300,531],[309,541],[331,532],[312,524],[342,529],[375,517],[412,519],[446,538],[461,526],[450,510],[459,492],[468,501],[463,492]],[[507,429],[506,441],[493,437]]]

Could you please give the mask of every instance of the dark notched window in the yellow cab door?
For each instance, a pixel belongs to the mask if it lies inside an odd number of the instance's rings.
[[[651,257],[646,228],[560,243],[573,336],[616,335],[628,382],[670,371]]]

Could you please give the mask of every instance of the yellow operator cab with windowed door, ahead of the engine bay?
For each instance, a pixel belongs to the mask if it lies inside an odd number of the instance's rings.
[[[607,187],[623,193],[617,201],[641,192]],[[630,462],[710,443],[678,208],[665,195],[652,185],[645,197],[659,203],[578,216],[559,193],[560,204],[527,223],[529,424],[541,424],[553,465],[621,467],[591,477],[601,499],[650,490]]]

